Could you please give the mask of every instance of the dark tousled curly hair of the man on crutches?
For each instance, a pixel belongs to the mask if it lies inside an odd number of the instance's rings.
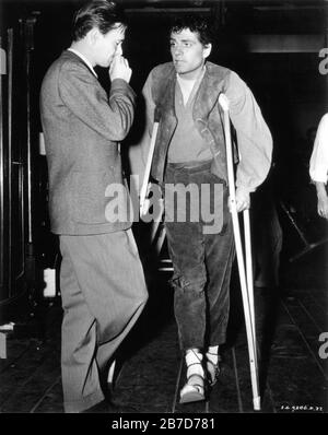
[[[189,28],[190,32],[198,34],[202,45],[211,44],[213,40],[213,27],[209,20],[202,15],[183,15],[174,20],[169,33],[180,33]]]

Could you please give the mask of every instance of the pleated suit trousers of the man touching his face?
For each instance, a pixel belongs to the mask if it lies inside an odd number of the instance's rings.
[[[104,399],[99,373],[148,298],[131,230],[60,236],[61,376],[66,412]]]

